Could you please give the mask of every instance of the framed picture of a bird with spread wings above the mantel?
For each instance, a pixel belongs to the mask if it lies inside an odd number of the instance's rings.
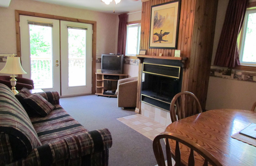
[[[151,6],[149,48],[177,49],[180,0]]]

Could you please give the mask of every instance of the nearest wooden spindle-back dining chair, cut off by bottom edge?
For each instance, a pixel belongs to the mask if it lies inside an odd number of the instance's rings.
[[[169,140],[175,140],[176,146],[175,146],[175,166],[180,166],[181,164],[184,165],[185,163],[181,163],[181,155],[180,155],[180,145],[181,144],[186,145],[190,148],[190,154],[188,157],[188,166],[194,166],[195,165],[195,158],[194,158],[194,151],[197,152],[199,155],[201,155],[204,158],[204,164],[203,166],[208,166],[208,162],[212,164],[212,166],[222,166],[222,164],[207,150],[205,150],[203,147],[199,146],[198,144],[192,142],[191,140],[180,136],[176,133],[171,132],[162,132],[159,135],[156,136],[156,138],[153,141],[153,150],[156,157],[156,162],[158,166],[165,166],[164,161],[164,154],[162,145],[160,143],[161,139],[166,139],[166,158],[167,158],[167,166],[172,166],[172,154],[171,154],[171,148],[169,144]],[[186,161],[184,161],[186,162]],[[187,165],[187,164],[186,164]]]

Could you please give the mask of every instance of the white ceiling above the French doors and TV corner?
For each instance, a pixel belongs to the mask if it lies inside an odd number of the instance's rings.
[[[105,4],[101,0],[34,0],[52,4],[59,4],[69,7],[89,9],[93,11],[101,11],[113,13],[114,0],[109,4]],[[141,0],[121,0],[115,4],[115,13],[141,11]]]

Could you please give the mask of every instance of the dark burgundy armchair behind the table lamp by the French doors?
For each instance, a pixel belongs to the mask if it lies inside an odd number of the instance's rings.
[[[0,76],[0,83],[6,85],[7,87],[12,89],[10,76]],[[16,81],[16,90],[21,90],[23,87],[28,89],[34,89],[34,82],[32,79],[26,79],[22,77],[15,77]]]

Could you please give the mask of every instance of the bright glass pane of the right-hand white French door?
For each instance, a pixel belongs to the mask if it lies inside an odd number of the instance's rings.
[[[85,86],[86,30],[68,28],[68,86]]]

